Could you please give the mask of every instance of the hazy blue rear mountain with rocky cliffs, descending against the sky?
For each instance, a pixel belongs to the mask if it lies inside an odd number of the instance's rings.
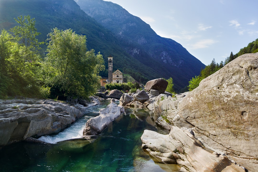
[[[160,37],[149,24],[123,7],[102,0],[76,2],[83,11],[111,30],[128,54],[162,73],[164,78],[172,77],[176,87],[188,85],[188,81],[205,67],[182,45]]]

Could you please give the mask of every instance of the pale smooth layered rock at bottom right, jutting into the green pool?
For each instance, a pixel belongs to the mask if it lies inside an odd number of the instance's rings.
[[[176,163],[189,172],[245,172],[226,156],[208,150],[188,130],[172,127],[170,134],[163,135],[144,130],[142,149],[155,162]]]

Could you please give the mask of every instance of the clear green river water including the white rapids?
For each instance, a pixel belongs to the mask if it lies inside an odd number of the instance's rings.
[[[89,108],[84,117],[58,135],[41,138],[54,144],[20,142],[4,147],[0,150],[0,171],[161,172],[180,169],[177,165],[155,163],[142,151],[143,130],[157,130],[149,112],[143,109],[125,109],[125,114],[100,135],[90,140],[80,138],[86,121],[97,116],[108,103]]]

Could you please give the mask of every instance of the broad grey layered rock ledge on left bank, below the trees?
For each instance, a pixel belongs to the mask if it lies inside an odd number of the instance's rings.
[[[82,117],[77,108],[85,110],[80,105],[53,100],[0,100],[0,147],[60,132]]]

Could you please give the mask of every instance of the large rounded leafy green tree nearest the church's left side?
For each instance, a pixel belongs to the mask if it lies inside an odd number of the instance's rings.
[[[87,51],[86,36],[71,29],[52,29],[48,34],[44,71],[46,84],[63,91],[65,96],[88,97],[100,87],[99,71],[104,69],[100,52]]]

